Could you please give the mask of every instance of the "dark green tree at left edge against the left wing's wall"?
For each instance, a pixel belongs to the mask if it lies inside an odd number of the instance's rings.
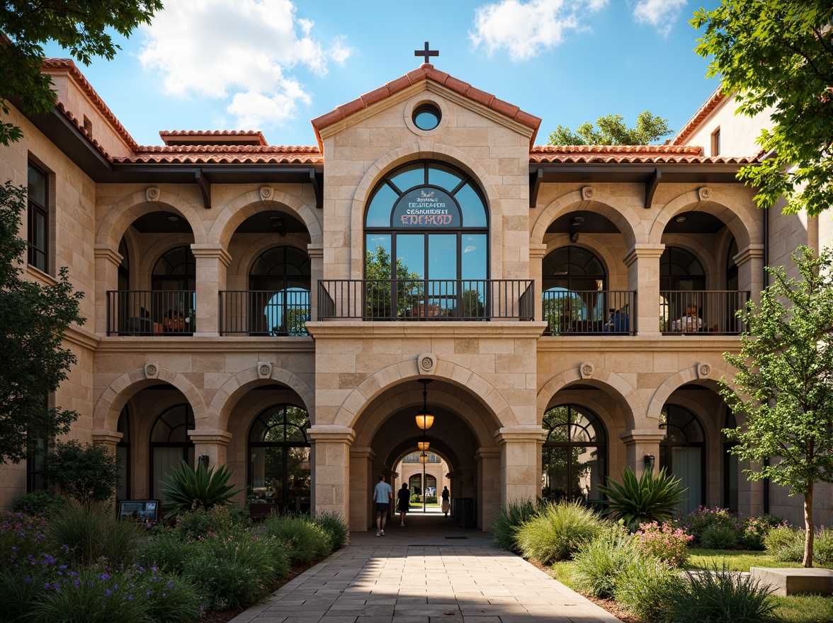
[[[0,187],[0,463],[25,459],[29,441],[66,433],[78,416],[47,408],[46,397],[76,361],[62,341],[71,323],[85,321],[78,311],[84,295],[72,291],[65,267],[54,284],[22,277],[25,197],[11,182]]]

